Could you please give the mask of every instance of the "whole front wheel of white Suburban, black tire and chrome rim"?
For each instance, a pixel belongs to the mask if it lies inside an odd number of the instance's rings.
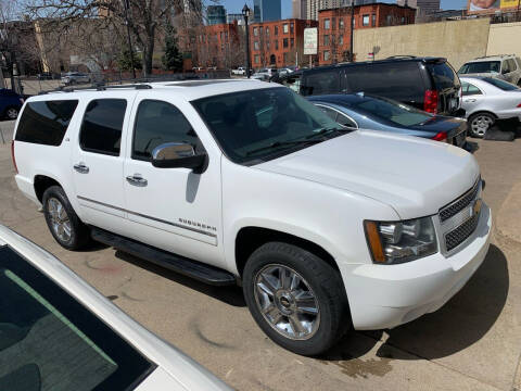
[[[258,248],[244,267],[243,290],[257,325],[294,353],[323,353],[351,327],[340,273],[295,245]]]

